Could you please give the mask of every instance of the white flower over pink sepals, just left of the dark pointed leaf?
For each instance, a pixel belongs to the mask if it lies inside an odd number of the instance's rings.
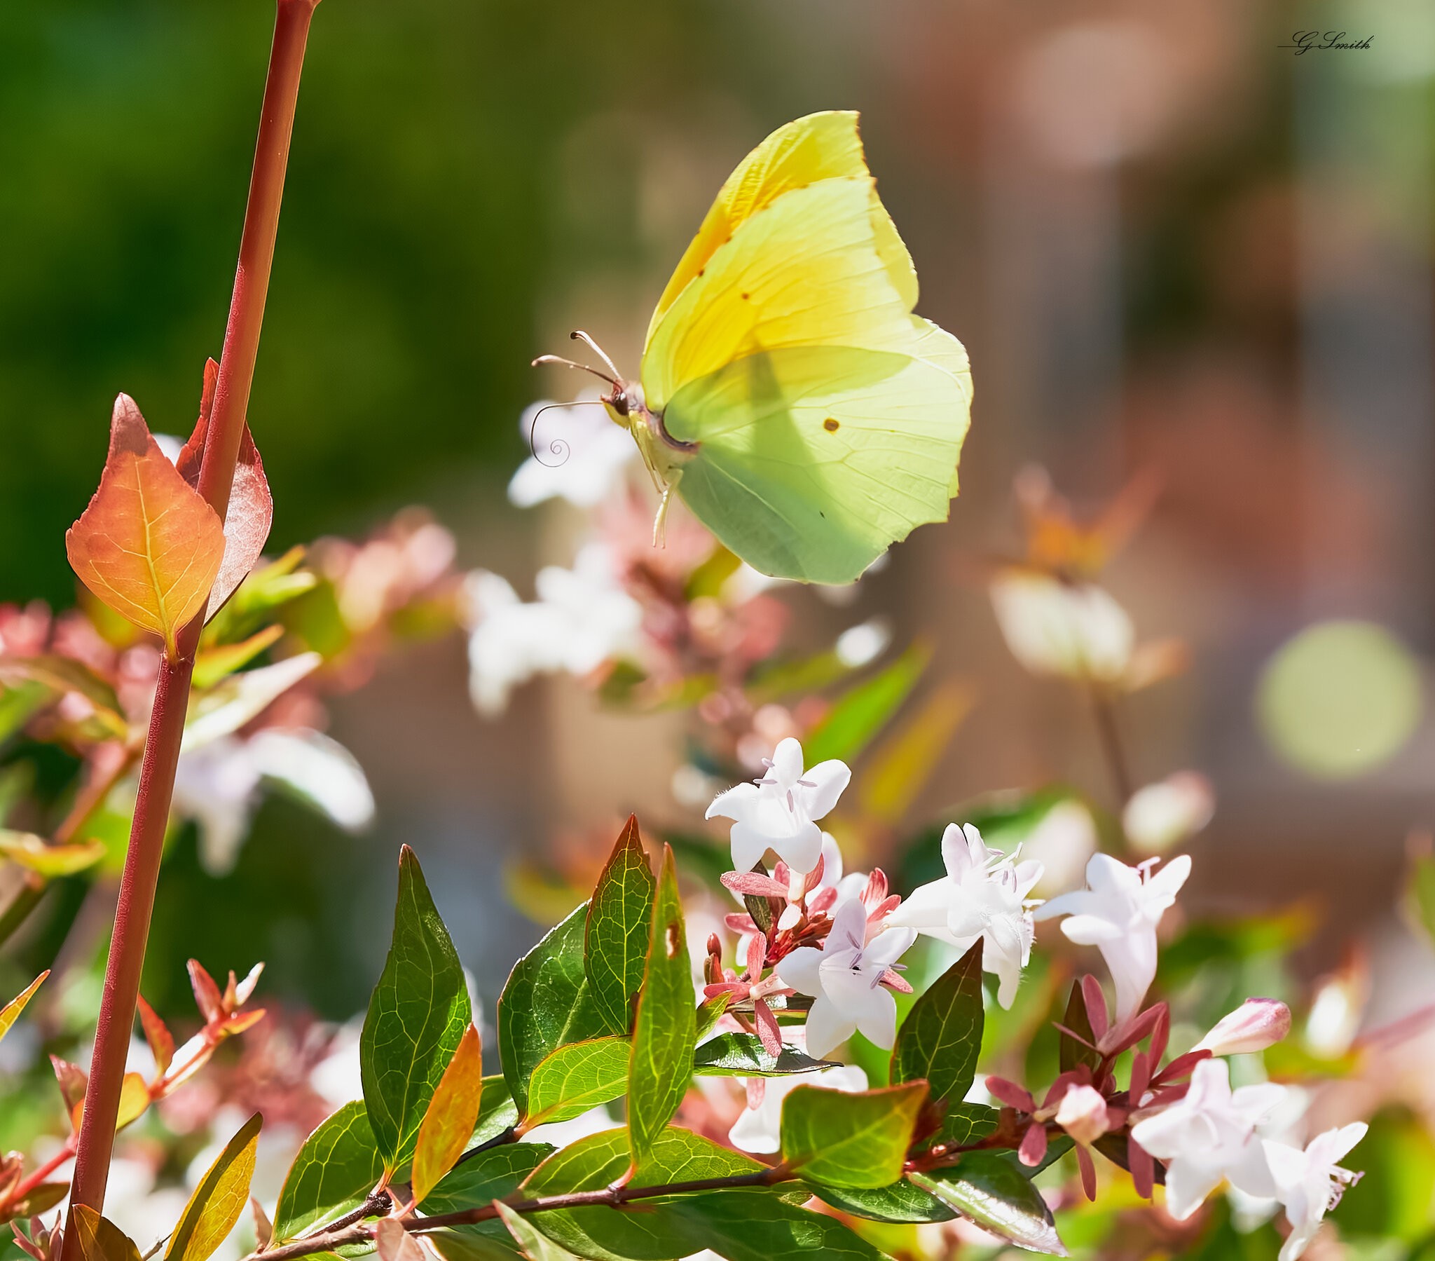
[[[822,948],[804,946],[778,964],[778,980],[817,998],[806,1018],[808,1053],[825,1056],[857,1030],[874,1046],[891,1050],[897,1037],[897,1000],[881,984],[917,934],[890,928],[864,944],[867,909],[847,902],[832,916]]]

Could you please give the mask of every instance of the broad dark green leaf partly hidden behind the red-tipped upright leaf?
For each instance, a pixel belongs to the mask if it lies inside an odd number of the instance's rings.
[[[583,974],[584,902],[538,942],[508,974],[498,998],[498,1054],[504,1079],[522,1116],[528,1079],[558,1047],[607,1033]]]

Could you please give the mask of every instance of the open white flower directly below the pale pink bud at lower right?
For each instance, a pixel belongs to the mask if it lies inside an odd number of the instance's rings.
[[[1225,1060],[1203,1060],[1185,1097],[1137,1122],[1131,1136],[1167,1166],[1167,1211],[1185,1221],[1223,1181],[1247,1195],[1274,1193],[1260,1125],[1280,1103],[1273,1083],[1231,1090]]]

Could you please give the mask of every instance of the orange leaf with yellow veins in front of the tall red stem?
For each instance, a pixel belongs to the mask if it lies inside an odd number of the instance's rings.
[[[70,566],[100,600],[175,651],[224,556],[220,518],[159,450],[128,395],[115,399],[99,490],[65,536]]]

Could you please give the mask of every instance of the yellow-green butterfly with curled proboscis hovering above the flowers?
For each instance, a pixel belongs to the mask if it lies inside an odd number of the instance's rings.
[[[723,184],[653,312],[637,381],[610,385],[663,493],[773,577],[848,583],[947,518],[971,373],[913,315],[917,273],[867,169],[857,113],[779,128]],[[611,373],[611,375],[610,375]]]

